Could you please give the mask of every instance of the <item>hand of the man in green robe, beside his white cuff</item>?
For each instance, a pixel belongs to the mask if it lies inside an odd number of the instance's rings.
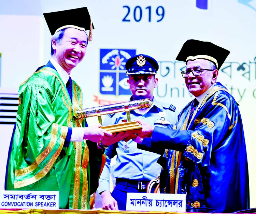
[[[99,142],[105,137],[111,137],[113,134],[105,129],[99,128],[101,124],[95,124],[84,128],[84,139]]]

